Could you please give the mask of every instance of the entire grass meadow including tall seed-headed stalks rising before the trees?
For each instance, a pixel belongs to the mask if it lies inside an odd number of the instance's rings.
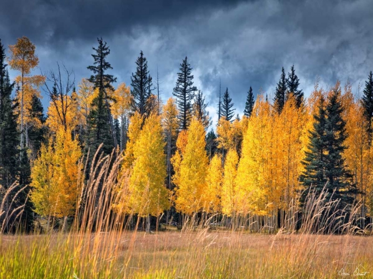
[[[96,152],[89,180],[79,179],[69,232],[1,234],[0,278],[373,278],[373,238],[354,225],[358,206],[344,217],[325,192],[310,192],[301,226],[294,209],[276,234],[249,233],[245,218],[211,230],[215,216],[195,222],[196,215],[180,231],[145,233],[125,208],[128,177],[118,177],[120,160]],[[3,203],[1,214],[11,215]]]

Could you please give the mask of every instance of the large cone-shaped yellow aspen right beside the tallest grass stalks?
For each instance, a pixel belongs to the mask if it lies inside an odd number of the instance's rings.
[[[161,118],[152,113],[145,120],[133,147],[134,163],[129,183],[129,208],[140,217],[159,216],[169,209],[165,187],[166,156]]]

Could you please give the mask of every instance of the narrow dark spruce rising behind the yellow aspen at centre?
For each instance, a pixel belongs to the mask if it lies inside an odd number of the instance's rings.
[[[178,80],[174,87],[174,96],[179,109],[180,129],[186,130],[190,124],[192,115],[191,100],[194,97],[194,92],[197,87],[193,86],[193,75],[191,74],[192,68],[187,62],[187,57],[183,59],[180,64],[180,72],[178,72]]]

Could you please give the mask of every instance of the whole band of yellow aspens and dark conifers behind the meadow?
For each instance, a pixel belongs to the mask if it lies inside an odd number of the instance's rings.
[[[131,87],[114,88],[116,77],[107,72],[109,46],[97,40],[88,67],[92,75],[77,87],[71,71],[59,65],[33,75],[38,58],[28,38],[9,46],[8,58],[0,43],[0,194],[12,189],[3,211],[16,216],[1,215],[1,231],[30,230],[35,213],[47,217],[48,226],[51,217],[63,217],[65,227],[74,216],[78,177],[90,175],[82,174],[78,162],[89,153],[91,163],[100,144],[103,154],[119,150],[120,175],[128,176],[126,185],[112,189],[128,196],[114,209],[147,217],[148,228],[149,216],[167,210],[167,220],[180,213],[181,221],[195,214],[231,221],[250,217],[276,229],[301,212],[304,193],[324,187],[328,197],[340,201],[338,214],[360,202],[359,225],[369,223],[372,72],[362,96],[351,92],[350,83],[342,89],[337,82],[327,89],[316,84],[304,98],[294,66],[287,76],[282,68],[273,102],[263,93],[255,101],[250,87],[241,119],[234,119],[226,88],[219,91],[216,133],[211,129],[206,135],[208,104],[193,85],[187,57],[177,73],[175,98],[163,105],[159,93],[153,94],[159,88],[142,51]],[[7,67],[19,72],[14,81]],[[50,97],[46,118],[41,88]]]

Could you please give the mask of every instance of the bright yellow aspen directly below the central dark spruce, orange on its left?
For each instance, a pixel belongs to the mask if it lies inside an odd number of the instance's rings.
[[[205,145],[204,127],[200,121],[193,119],[188,128],[185,151],[181,150],[183,156],[180,161],[174,160],[174,182],[177,186],[175,205],[179,212],[187,215],[200,211],[203,206],[201,197],[206,187],[208,166]],[[180,152],[175,156],[180,157]]]

